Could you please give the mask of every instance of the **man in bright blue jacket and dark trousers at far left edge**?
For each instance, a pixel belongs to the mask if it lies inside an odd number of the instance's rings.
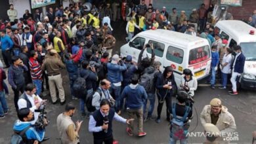
[[[11,65],[11,49],[13,42],[11,37],[5,34],[5,30],[0,31],[0,47],[2,49],[3,60],[5,61],[5,66],[10,67]]]

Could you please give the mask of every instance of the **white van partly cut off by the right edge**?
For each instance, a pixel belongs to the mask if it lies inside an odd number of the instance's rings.
[[[215,34],[221,34],[228,40],[228,46],[240,45],[245,56],[244,73],[240,77],[240,86],[244,89],[256,88],[256,29],[240,20],[223,20],[215,25]]]

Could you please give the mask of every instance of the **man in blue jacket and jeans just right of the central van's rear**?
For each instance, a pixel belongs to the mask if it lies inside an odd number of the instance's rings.
[[[219,63],[219,52],[217,51],[217,45],[211,47],[211,89],[215,89],[215,76]]]

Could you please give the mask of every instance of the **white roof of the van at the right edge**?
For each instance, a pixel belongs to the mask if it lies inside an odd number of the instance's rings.
[[[240,20],[221,20],[215,25],[219,27],[222,31],[226,32],[228,35],[233,35],[234,38],[241,41],[242,39],[255,39],[256,29],[255,27],[249,26],[245,22]],[[250,35],[251,30],[255,31],[255,35]],[[246,41],[246,40],[245,40]]]

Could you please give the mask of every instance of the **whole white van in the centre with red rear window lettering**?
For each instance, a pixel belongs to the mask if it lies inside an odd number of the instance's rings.
[[[140,50],[147,43],[153,44],[155,60],[161,62],[161,70],[173,67],[177,85],[186,68],[191,69],[198,80],[209,75],[211,50],[207,39],[164,29],[143,31],[121,46],[121,57],[131,55],[133,62],[138,62]],[[143,56],[151,58],[151,49],[145,50]]]

